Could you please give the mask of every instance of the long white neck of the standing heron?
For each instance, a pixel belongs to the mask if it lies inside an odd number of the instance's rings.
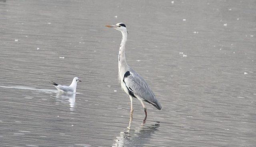
[[[119,54],[118,54],[118,75],[119,75],[119,82],[122,81],[122,76],[124,75],[124,72],[127,67],[126,59],[125,59],[125,44],[127,41],[127,32],[122,32],[122,41],[119,48]]]

